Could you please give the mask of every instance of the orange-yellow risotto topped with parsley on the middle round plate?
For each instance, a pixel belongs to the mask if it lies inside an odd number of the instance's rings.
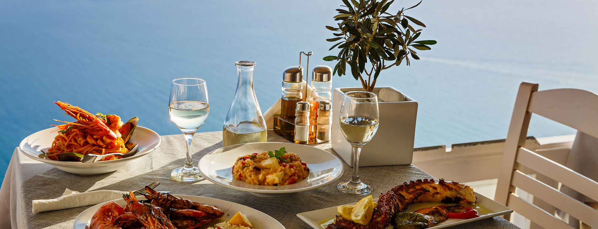
[[[233,178],[249,184],[287,185],[307,178],[309,168],[295,153],[280,150],[239,157],[233,166]]]

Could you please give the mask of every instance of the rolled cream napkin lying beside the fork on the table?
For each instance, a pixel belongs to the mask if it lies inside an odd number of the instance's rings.
[[[51,200],[32,200],[33,213],[53,211],[59,209],[76,208],[87,205],[97,205],[108,200],[115,200],[123,197],[127,191],[97,190],[80,193],[66,188],[62,196]]]

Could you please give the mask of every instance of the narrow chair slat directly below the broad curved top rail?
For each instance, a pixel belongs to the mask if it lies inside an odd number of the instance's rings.
[[[578,172],[523,147],[519,148],[516,161],[527,168],[546,175],[547,177],[561,182],[569,188],[598,201],[598,182],[591,180]]]

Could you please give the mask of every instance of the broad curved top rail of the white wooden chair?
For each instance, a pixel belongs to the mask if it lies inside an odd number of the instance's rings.
[[[598,96],[592,92],[572,88],[536,91],[527,110],[598,138]]]

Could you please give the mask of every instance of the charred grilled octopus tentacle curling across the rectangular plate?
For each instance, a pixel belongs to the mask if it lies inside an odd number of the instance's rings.
[[[327,229],[379,229],[386,228],[390,218],[397,212],[407,209],[414,202],[475,203],[474,190],[468,185],[440,179],[404,182],[382,194],[370,224],[361,225],[337,216],[336,222]]]

